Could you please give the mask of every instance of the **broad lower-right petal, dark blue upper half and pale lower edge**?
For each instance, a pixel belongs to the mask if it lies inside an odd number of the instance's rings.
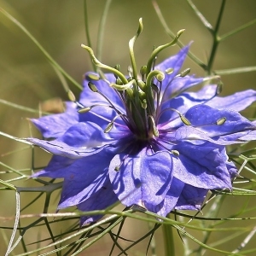
[[[179,156],[172,159],[174,177],[202,189],[232,188],[224,156],[215,144],[182,142],[173,148],[179,152]]]

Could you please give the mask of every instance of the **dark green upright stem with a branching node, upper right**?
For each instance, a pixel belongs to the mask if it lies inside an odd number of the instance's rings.
[[[212,51],[211,51],[210,59],[208,61],[208,65],[207,65],[207,73],[208,74],[211,74],[214,57],[215,57],[216,51],[218,49],[218,44],[220,42],[220,38],[218,37],[218,30],[219,30],[219,26],[220,26],[220,23],[221,23],[223,14],[224,14],[225,3],[226,3],[226,0],[223,0],[220,10],[219,10],[218,20],[217,20],[214,32],[212,33],[213,44],[212,44]]]

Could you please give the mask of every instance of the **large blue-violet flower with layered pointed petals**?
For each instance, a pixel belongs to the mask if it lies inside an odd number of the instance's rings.
[[[53,154],[33,177],[64,178],[58,208],[101,210],[121,201],[160,216],[198,210],[209,189],[232,189],[236,166],[225,146],[256,138],[239,111],[255,90],[218,96],[219,86],[180,72],[189,46],[141,69],[86,73],[79,102],[65,113],[32,119],[48,140],[28,140]],[[149,63],[149,62],[148,62]],[[87,224],[102,216],[82,217]]]

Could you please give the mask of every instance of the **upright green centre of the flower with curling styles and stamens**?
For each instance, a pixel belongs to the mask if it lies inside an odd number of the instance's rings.
[[[110,102],[101,92],[99,93],[107,99],[111,105],[110,107],[116,110],[118,117],[124,120],[125,124],[139,141],[148,141],[152,137],[159,136],[159,131],[157,131],[156,127],[156,116],[160,106],[160,88],[158,88],[154,83],[161,84],[165,79],[165,74],[159,70],[154,70],[154,61],[162,49],[166,49],[167,47],[177,43],[177,39],[183,31],[184,30],[177,32],[177,36],[172,40],[172,42],[155,48],[148,59],[147,65],[140,69],[140,75],[138,75],[133,47],[137,37],[141,32],[143,32],[143,21],[140,19],[137,34],[129,41],[131,68],[129,72],[130,77],[128,79],[123,73],[120,73],[119,66],[113,68],[102,64],[102,62],[96,59],[93,50],[82,44],[82,47],[89,52],[96,67],[107,69],[115,76],[115,83],[110,83],[108,80],[104,79],[104,75],[102,73],[99,73],[101,79],[105,80],[109,86],[119,94],[119,98],[125,107],[125,114],[119,113],[119,111],[113,106],[112,102]],[[93,85],[94,84],[90,82],[90,89],[98,92],[96,86]],[[113,122],[114,120],[109,123],[105,132],[111,130]]]

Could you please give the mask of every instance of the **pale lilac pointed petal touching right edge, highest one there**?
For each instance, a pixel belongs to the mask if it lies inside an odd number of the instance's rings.
[[[256,90],[243,90],[225,97],[214,97],[207,105],[212,108],[225,108],[241,111],[256,101]]]

